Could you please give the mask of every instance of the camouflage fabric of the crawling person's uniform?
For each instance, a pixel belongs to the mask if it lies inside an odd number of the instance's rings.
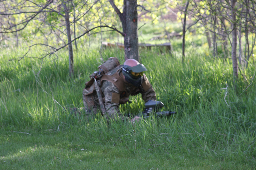
[[[120,70],[120,68],[122,68],[122,65],[114,68],[107,74],[113,75],[118,70],[119,75],[121,77],[123,77],[122,70]],[[118,81],[120,81],[120,80],[118,80]],[[122,79],[122,81],[124,81],[124,79]],[[143,78],[142,78],[142,82],[144,82],[144,81],[148,81],[145,74],[143,75]],[[132,84],[125,82],[126,93],[128,93],[128,95],[130,94],[131,96],[141,94],[144,102],[147,102],[148,100],[156,100],[156,92],[154,91],[154,89],[152,88],[152,85],[149,82],[148,82],[148,84],[150,85],[150,88],[148,88],[147,91],[144,91],[144,88],[142,86],[135,87]],[[100,86],[100,88],[101,88],[101,94],[102,94],[102,98],[104,100],[104,105],[105,105],[105,109],[106,109],[106,114],[104,116],[107,119],[114,119],[114,118],[118,118],[118,117],[122,120],[127,119],[127,117],[123,116],[119,110],[119,105],[123,104],[123,103],[122,102],[119,102],[119,103],[112,102],[112,93],[120,94],[119,89],[112,82],[107,81],[107,80],[102,81],[102,85]],[[89,94],[87,96],[85,96],[85,94],[86,94],[86,92],[83,91],[83,102],[84,102],[84,107],[85,107],[87,113],[88,114],[96,114],[98,111],[98,108],[100,108],[96,91],[94,90],[94,92],[92,94]],[[122,95],[120,94],[120,99],[121,99],[121,96]],[[88,104],[87,104],[86,100],[89,100],[88,102],[94,102],[94,106],[88,108]]]

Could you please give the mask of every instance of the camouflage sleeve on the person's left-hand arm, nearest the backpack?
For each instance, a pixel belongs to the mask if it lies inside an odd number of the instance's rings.
[[[114,100],[112,95],[118,95],[119,96],[119,90],[118,88],[112,83],[107,80],[104,80],[103,82],[103,90],[105,95],[105,109],[107,112],[107,115],[105,117],[108,119],[114,119],[116,117],[120,117],[120,119],[124,120],[127,119],[125,116],[123,116],[119,111],[119,100]]]

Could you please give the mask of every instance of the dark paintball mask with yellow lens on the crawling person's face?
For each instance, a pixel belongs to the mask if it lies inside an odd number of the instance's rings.
[[[122,73],[124,74],[124,78],[128,83],[139,87],[142,84],[142,76],[146,70],[147,69],[143,64],[138,64],[133,67],[124,65],[122,68]]]

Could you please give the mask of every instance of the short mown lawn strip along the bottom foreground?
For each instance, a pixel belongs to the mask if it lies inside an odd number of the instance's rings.
[[[252,169],[250,164],[200,155],[162,145],[137,145],[139,142],[106,143],[85,140],[74,129],[30,132],[31,135],[6,132],[1,135],[3,169]],[[120,136],[121,137],[121,136]],[[195,156],[196,155],[196,156]]]

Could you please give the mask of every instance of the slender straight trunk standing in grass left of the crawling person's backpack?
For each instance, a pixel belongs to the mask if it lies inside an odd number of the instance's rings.
[[[74,75],[74,60],[73,60],[73,49],[72,49],[72,43],[71,43],[69,13],[68,13],[68,8],[66,4],[63,3],[62,6],[65,10],[66,30],[67,30],[67,36],[68,36],[69,76],[72,77]]]

